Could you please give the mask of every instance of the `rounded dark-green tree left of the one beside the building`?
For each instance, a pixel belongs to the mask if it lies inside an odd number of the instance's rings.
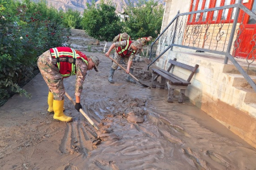
[[[99,5],[92,1],[90,6],[87,3],[82,18],[83,29],[91,37],[98,40],[112,41],[113,37],[122,31],[119,17],[115,13],[116,7],[110,1],[104,3],[101,0]]]

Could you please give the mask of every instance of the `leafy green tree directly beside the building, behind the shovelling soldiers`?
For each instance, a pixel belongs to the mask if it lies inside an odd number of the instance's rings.
[[[134,38],[157,37],[162,25],[164,7],[157,4],[154,0],[140,0],[137,6],[134,6],[128,0],[128,6],[125,9],[129,18],[125,22],[125,31]]]

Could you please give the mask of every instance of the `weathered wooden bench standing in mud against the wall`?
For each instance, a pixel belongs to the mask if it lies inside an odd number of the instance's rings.
[[[191,84],[190,81],[197,71],[197,68],[199,65],[195,65],[195,67],[183,64],[181,62],[177,62],[177,59],[169,60],[169,63],[171,64],[167,71],[164,69],[152,69],[152,88],[156,88],[157,85],[160,86],[160,88],[164,89],[165,84],[168,84],[168,96],[167,101],[169,103],[173,103],[174,98],[174,89],[180,89],[180,95],[178,99],[178,103],[183,103],[183,99],[185,96],[186,87],[188,87],[188,84]],[[190,76],[187,80],[181,79],[178,76],[175,76],[172,74],[171,69],[176,65],[176,67],[181,67],[183,69],[186,69],[188,71],[191,71]],[[161,76],[161,81],[157,81],[157,77]]]

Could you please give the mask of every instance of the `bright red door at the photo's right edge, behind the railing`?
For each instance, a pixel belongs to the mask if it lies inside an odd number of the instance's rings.
[[[244,3],[244,5],[247,6],[248,9],[251,9],[253,13],[256,13],[256,1],[250,0],[248,3]],[[240,15],[243,16],[243,14]],[[239,37],[241,42],[239,47],[235,50],[235,57],[242,59],[247,59],[248,57],[248,59],[252,59],[252,54],[255,55],[256,53],[252,51],[252,49],[256,47],[256,21],[245,14],[243,25],[241,25],[240,28],[243,29]]]

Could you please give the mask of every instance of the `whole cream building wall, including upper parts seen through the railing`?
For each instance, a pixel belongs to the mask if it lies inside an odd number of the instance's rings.
[[[180,10],[180,13],[186,13],[189,8],[190,0],[167,1],[163,21],[168,22],[162,24],[162,30],[173,20],[178,10]],[[208,31],[213,36],[207,40],[204,40],[205,28],[202,29],[202,33],[199,36],[200,42],[197,43],[199,48],[204,46],[204,48],[209,48],[210,50],[226,51],[232,26],[228,24],[222,26],[222,35],[217,42],[216,38],[219,38],[220,32],[216,27],[218,25],[210,25]],[[159,42],[159,46],[161,43]],[[193,45],[193,40],[191,38],[189,40],[183,38],[181,43],[183,45]],[[168,46],[163,45],[161,47],[166,48]],[[163,50],[161,48],[159,51],[162,52]],[[157,52],[158,54],[160,53],[159,51]],[[243,93],[240,88],[233,86],[233,84],[240,82],[235,82],[233,77],[226,74],[232,68],[229,68],[230,65],[223,64],[224,56],[197,54],[195,50],[176,47],[173,48],[173,51],[166,52],[155,62],[155,65],[162,69],[167,69],[169,67],[168,60],[174,58],[177,58],[178,62],[188,65],[199,65],[196,74],[190,81],[192,84],[186,89],[185,95],[190,101],[256,148],[256,107],[253,108],[247,105],[247,100],[256,98],[256,96],[248,98],[247,93]],[[173,74],[187,79],[190,72],[181,68],[174,68]]]

